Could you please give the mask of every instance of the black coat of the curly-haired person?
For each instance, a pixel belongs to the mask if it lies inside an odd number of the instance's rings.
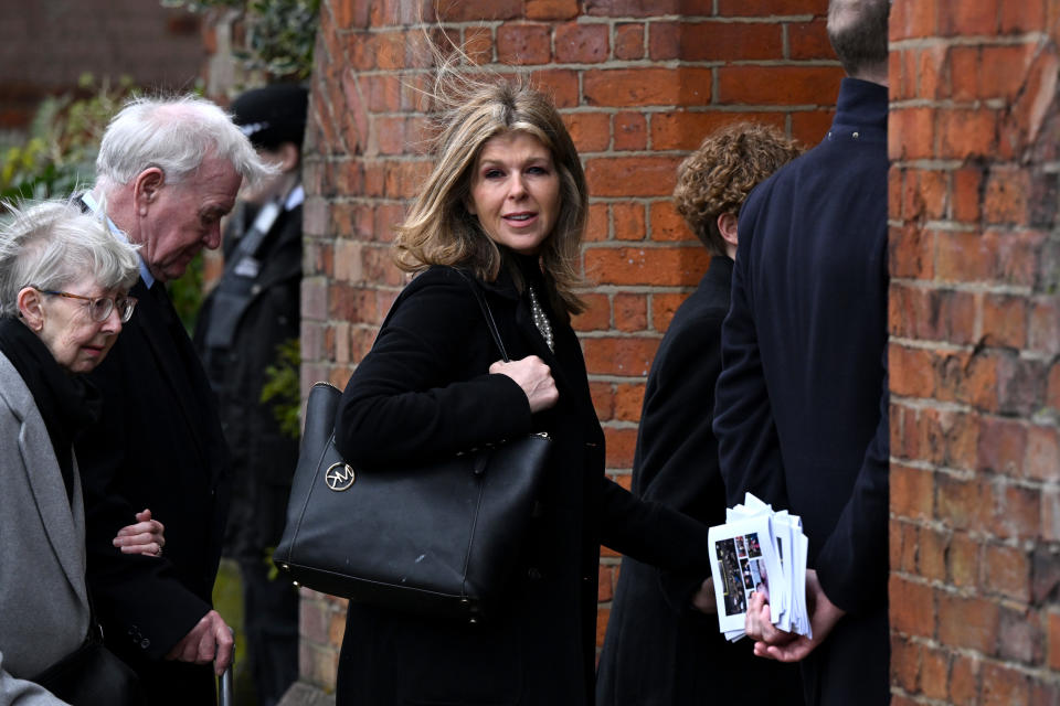
[[[721,372],[721,322],[732,260],[711,258],[699,287],[674,315],[645,388],[633,493],[706,525],[725,521],[725,488],[711,430]],[[691,608],[693,577],[624,557],[596,676],[600,706],[799,704],[795,665],[755,657],[730,643],[714,616]]]

